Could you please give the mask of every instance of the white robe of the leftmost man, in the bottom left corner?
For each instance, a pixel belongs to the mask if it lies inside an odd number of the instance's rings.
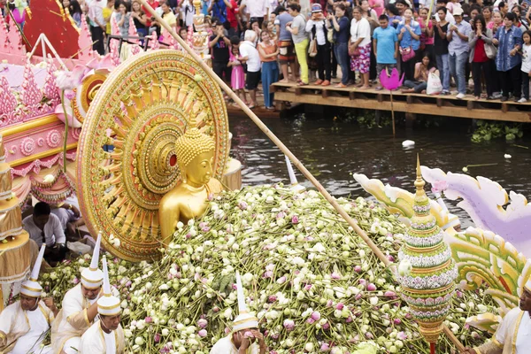
[[[10,304],[0,313],[0,352],[51,353],[50,347],[41,348],[41,344],[53,320],[53,312],[42,301],[34,311],[22,310],[19,301]]]

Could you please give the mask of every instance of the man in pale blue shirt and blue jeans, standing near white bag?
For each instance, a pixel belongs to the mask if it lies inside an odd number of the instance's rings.
[[[458,84],[456,98],[463,99],[466,95],[465,70],[468,64],[468,35],[472,32],[470,24],[463,20],[463,9],[454,10],[455,25],[448,27],[446,38],[448,39],[448,54],[450,62],[450,75]]]

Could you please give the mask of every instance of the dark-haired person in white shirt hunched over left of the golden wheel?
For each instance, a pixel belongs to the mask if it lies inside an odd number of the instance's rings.
[[[24,218],[22,226],[39,248],[42,244],[46,245],[44,258],[48,263],[65,259],[65,231],[59,218],[51,213],[50,204],[44,202],[35,204],[33,215]]]

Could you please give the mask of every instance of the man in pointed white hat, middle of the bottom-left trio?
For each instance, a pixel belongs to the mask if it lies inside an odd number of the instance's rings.
[[[97,236],[90,267],[81,273],[81,283],[68,290],[63,298],[63,308],[51,328],[54,354],[79,354],[81,335],[97,316],[97,299],[101,295],[104,273],[98,269],[102,235]]]

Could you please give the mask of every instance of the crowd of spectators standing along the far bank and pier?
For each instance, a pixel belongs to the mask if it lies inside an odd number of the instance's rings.
[[[435,0],[430,6],[422,0],[211,0],[202,1],[201,8],[212,68],[250,108],[258,105],[260,82],[264,105],[273,110],[273,82],[381,89],[381,72],[393,68],[404,74],[404,93],[426,92],[428,78],[436,76],[441,95],[526,102],[531,72],[527,0],[471,1]],[[112,16],[124,36],[129,17],[138,35],[160,35],[160,24],[137,0],[99,3],[85,3],[95,39],[110,33]],[[63,4],[79,12],[77,0]],[[150,4],[186,37],[195,11],[190,0]]]

